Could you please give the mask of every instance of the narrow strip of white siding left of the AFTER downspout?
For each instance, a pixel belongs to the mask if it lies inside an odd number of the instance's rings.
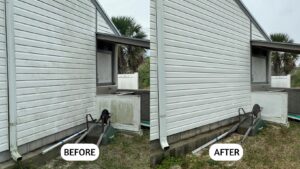
[[[157,47],[156,47],[156,9],[155,0],[150,7],[150,139],[158,138],[158,92],[157,92]]]

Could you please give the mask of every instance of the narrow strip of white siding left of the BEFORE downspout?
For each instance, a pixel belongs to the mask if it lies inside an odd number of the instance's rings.
[[[0,0],[0,152],[8,150],[7,60],[4,10],[4,0]]]

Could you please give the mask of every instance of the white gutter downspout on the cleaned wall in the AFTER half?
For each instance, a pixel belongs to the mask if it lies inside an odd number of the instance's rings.
[[[169,149],[167,139],[166,98],[165,98],[165,58],[164,58],[164,0],[156,1],[156,38],[157,38],[157,69],[158,69],[158,124],[159,141],[163,150]]]

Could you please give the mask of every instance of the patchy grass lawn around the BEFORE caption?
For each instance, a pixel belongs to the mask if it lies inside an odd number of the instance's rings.
[[[93,162],[66,162],[58,157],[23,169],[148,169],[149,156],[149,130],[144,130],[143,136],[117,133],[112,143],[100,146],[100,157]]]

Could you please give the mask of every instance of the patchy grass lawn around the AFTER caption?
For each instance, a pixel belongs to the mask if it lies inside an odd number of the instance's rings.
[[[233,134],[223,143],[238,143],[241,136]],[[300,122],[290,121],[290,127],[267,126],[255,137],[248,137],[243,145],[244,157],[238,162],[216,162],[208,149],[199,155],[170,157],[157,169],[300,169]]]

